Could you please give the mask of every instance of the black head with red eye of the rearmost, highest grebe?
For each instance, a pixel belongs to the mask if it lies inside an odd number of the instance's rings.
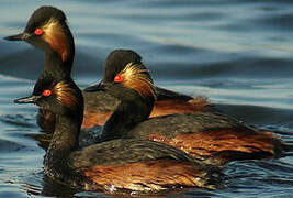
[[[26,41],[45,52],[58,53],[63,62],[74,55],[74,38],[64,12],[54,7],[41,7],[34,11],[23,33],[4,37],[9,41]]]

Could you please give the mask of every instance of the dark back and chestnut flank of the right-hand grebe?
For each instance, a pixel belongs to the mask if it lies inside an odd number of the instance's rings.
[[[196,158],[213,156],[209,158],[213,164],[278,156],[284,147],[271,132],[211,112],[149,119],[132,130],[129,136],[164,142]]]

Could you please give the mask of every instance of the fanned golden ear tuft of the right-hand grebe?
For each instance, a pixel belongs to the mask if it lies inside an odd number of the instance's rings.
[[[123,86],[136,90],[144,98],[157,99],[153,79],[143,65],[128,63],[119,75],[123,78],[121,82]]]

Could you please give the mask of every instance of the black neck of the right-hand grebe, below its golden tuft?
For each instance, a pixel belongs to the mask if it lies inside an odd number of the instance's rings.
[[[117,109],[103,127],[101,141],[116,138],[131,138],[129,131],[148,119],[154,101],[137,97],[135,100],[121,101]]]

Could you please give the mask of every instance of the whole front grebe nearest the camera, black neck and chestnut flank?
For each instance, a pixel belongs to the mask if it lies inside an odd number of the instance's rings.
[[[43,74],[32,96],[15,102],[33,102],[56,116],[55,131],[44,158],[45,175],[53,179],[79,189],[110,191],[215,188],[219,184],[217,168],[168,144],[115,139],[79,148],[83,99],[69,75]]]

